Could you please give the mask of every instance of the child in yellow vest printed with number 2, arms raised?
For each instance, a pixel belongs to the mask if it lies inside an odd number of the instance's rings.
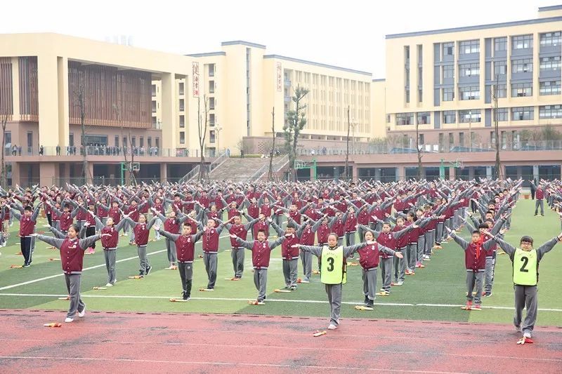
[[[487,231],[482,231],[491,236]],[[505,253],[509,255],[509,258],[511,258],[511,262],[513,262],[515,290],[514,325],[518,331],[523,332],[523,338],[517,343],[532,342],[530,341],[532,328],[535,327],[535,321],[537,321],[539,262],[542,260],[544,253],[550,251],[558,241],[562,241],[562,234],[554,236],[554,238],[537,249],[532,248],[532,238],[530,236],[523,236],[521,238],[521,248],[515,248],[497,236],[494,236],[492,240],[502,247]],[[523,321],[523,326],[521,326],[521,314],[525,306],[527,307],[527,315],[525,316],[525,321]]]

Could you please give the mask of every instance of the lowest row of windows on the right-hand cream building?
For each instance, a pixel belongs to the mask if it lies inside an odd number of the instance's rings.
[[[508,121],[509,112],[511,112],[511,121],[528,121],[534,118],[534,107],[512,107],[498,108],[495,112],[497,121]],[[457,114],[458,113],[458,114]],[[468,110],[445,110],[441,112],[443,123],[457,123],[457,115],[459,123],[478,123],[482,121],[481,109],[468,109]],[[492,114],[493,115],[493,114]],[[397,113],[396,125],[413,125],[414,118],[417,124],[431,123],[430,112],[417,112],[417,113]],[[540,119],[559,119],[562,118],[562,105],[542,105],[539,107]],[[388,121],[388,118],[387,118]]]

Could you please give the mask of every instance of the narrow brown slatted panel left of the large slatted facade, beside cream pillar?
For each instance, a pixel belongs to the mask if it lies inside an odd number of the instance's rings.
[[[19,58],[20,114],[22,121],[39,121],[37,56]]]

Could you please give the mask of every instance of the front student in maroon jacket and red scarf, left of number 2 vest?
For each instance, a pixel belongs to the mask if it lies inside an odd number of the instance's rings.
[[[466,267],[466,310],[481,310],[482,287],[486,270],[486,251],[490,250],[493,241],[481,241],[481,232],[474,230],[471,241],[468,242],[457,236],[454,230],[447,227],[449,235],[464,250],[464,265]],[[476,287],[476,295],[472,291]],[[474,305],[472,302],[474,301]]]

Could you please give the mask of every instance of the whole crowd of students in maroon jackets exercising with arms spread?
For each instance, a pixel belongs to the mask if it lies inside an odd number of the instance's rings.
[[[202,241],[208,276],[204,291],[214,290],[221,232],[230,235],[233,260],[232,281],[244,274],[244,251],[251,251],[258,296],[254,305],[266,300],[270,251],[281,246],[285,291],[308,283],[313,272],[320,274],[330,305],[329,329],[339,326],[342,284],[346,265],[358,256],[362,268],[365,309],[372,309],[377,295],[388,296],[393,286],[402,286],[407,276],[426,267],[433,251],[454,239],[465,253],[466,306],[481,310],[482,296],[492,295],[497,245],[514,262],[516,315],[514,324],[525,338],[535,323],[538,262],[562,239],[533,249],[532,238],[521,238],[521,249],[502,240],[511,225],[511,209],[521,192],[522,180],[440,180],[381,183],[258,182],[244,184],[214,182],[65,187],[1,190],[0,242],[6,245],[8,225],[20,221],[22,267],[32,265],[34,241],[39,239],[60,249],[61,264],[70,295],[65,321],[76,313],[85,315],[80,299],[80,277],[84,253],[100,241],[107,268],[106,287],[114,286],[116,251],[121,236],[138,248],[137,277],[148,276],[152,267],[146,254],[151,229],[155,240],[164,238],[168,269],[178,269],[183,300],[192,289],[195,243]],[[560,211],[562,183],[541,180],[535,196]],[[540,206],[537,203],[537,207]],[[44,210],[53,236],[36,233],[37,217]],[[226,217],[225,217],[226,215]],[[535,215],[537,213],[535,212]],[[562,217],[562,216],[561,216]],[[245,222],[243,222],[243,218]],[[562,220],[562,218],[561,218]],[[469,228],[471,239],[458,236]],[[270,237],[270,229],[277,234]],[[250,239],[251,238],[251,239]],[[357,243],[356,243],[356,239]],[[314,269],[312,256],[318,257]],[[298,278],[301,260],[303,276]],[[524,264],[523,264],[524,262]],[[377,274],[381,288],[377,290]],[[521,325],[521,311],[528,309]]]

